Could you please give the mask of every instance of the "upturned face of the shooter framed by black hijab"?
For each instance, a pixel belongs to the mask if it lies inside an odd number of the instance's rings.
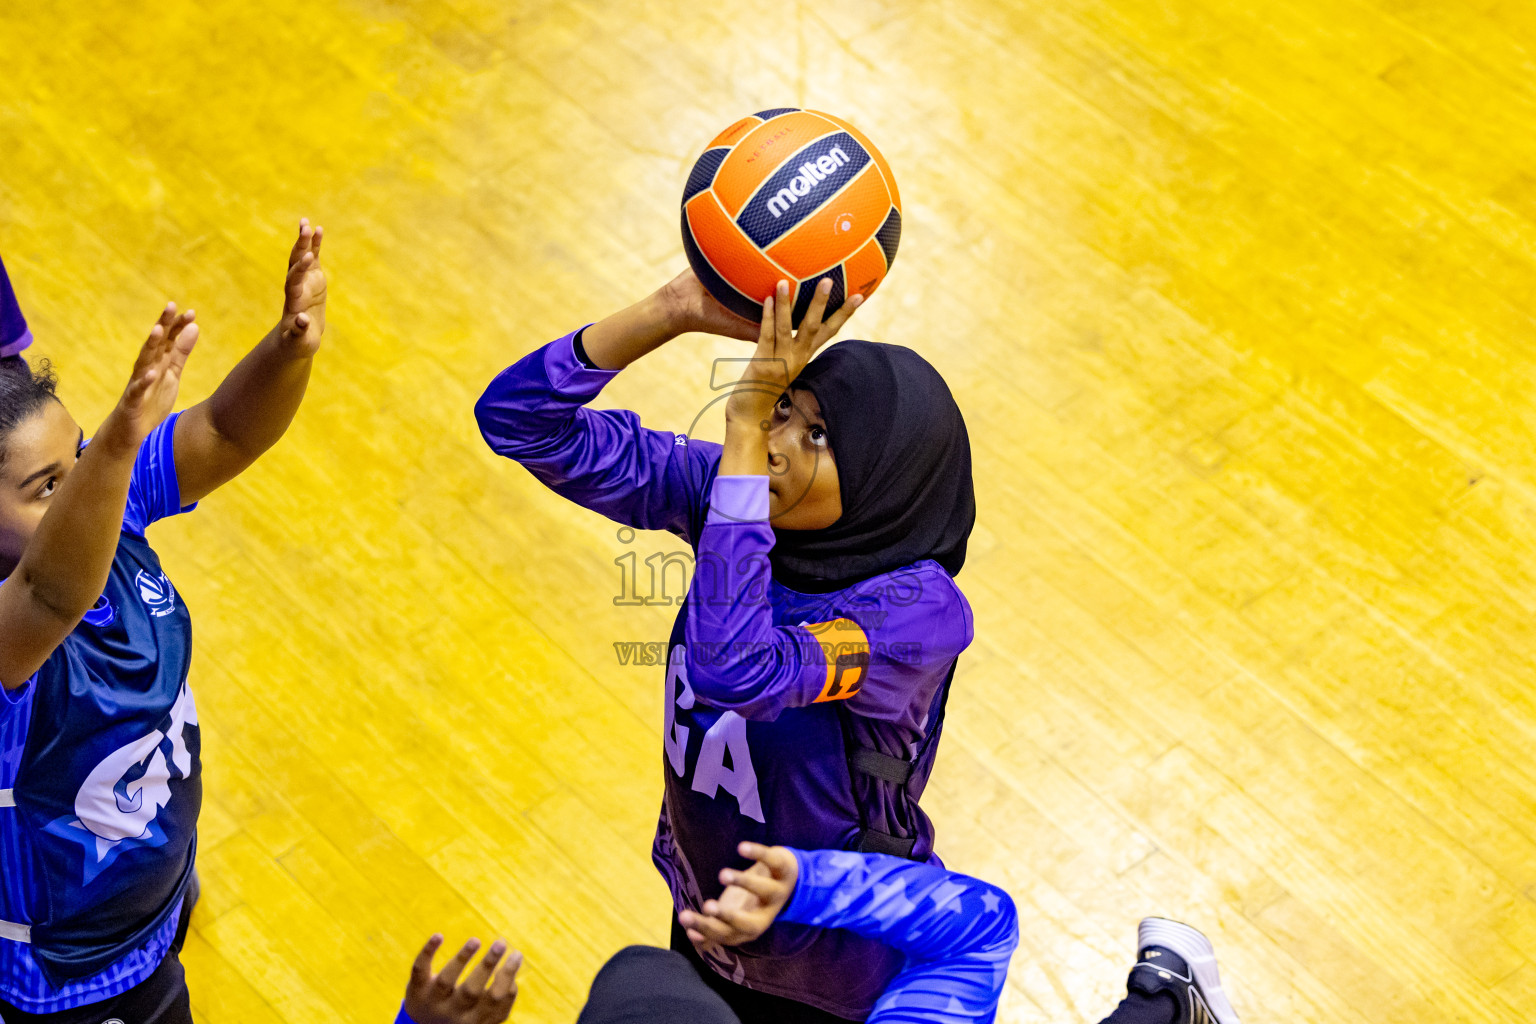
[[[822,530],[843,514],[826,421],[816,396],[786,391],[768,431],[768,516],[780,530]]]

